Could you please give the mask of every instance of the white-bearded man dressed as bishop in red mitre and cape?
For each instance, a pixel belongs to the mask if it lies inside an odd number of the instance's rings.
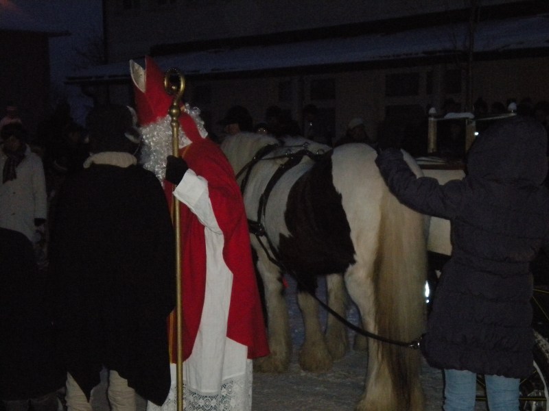
[[[172,101],[163,73],[150,58],[145,70],[130,62],[130,71],[144,166],[161,181],[165,177],[167,197],[181,202],[185,409],[250,410],[251,360],[269,351],[240,188],[228,160],[207,138],[198,110],[189,105],[179,119],[180,158],[168,156]],[[169,332],[176,362],[173,324]],[[172,388],[163,409],[176,406],[174,373]]]

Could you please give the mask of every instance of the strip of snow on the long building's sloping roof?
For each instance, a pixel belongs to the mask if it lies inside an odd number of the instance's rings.
[[[296,41],[283,45],[210,49],[155,58],[162,69],[188,75],[426,58],[465,50],[466,23],[397,33]],[[549,49],[549,14],[479,23],[476,53]],[[142,60],[136,59],[143,64]],[[67,77],[67,84],[129,78],[129,63],[95,66]]]

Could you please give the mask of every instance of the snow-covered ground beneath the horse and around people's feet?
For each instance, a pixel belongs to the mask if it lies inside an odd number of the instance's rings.
[[[286,298],[290,310],[294,356],[286,373],[254,373],[253,411],[352,411],[364,390],[368,356],[363,352],[350,351],[342,360],[335,362],[334,368],[327,373],[301,371],[297,352],[303,342],[303,327],[296,303],[294,282],[288,279],[288,283],[290,286]],[[323,290],[321,283],[319,292]],[[349,310],[349,318],[356,319],[356,312],[352,308]],[[350,333],[349,338],[352,337]],[[432,369],[423,362],[420,377],[425,393],[425,411],[441,411],[441,371]],[[102,382],[100,390],[104,390],[104,386],[105,383]],[[106,395],[97,393],[94,401],[94,411],[108,411]],[[140,403],[138,411],[143,410],[144,403]],[[475,411],[486,411],[486,406],[484,403],[477,403]]]

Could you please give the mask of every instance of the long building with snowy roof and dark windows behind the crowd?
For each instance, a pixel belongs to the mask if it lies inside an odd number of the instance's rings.
[[[447,99],[549,100],[546,0],[104,0],[104,30],[110,63],[69,84],[131,103],[128,62],[152,55],[185,73],[214,134],[235,104],[256,123],[270,105],[301,123],[312,103],[337,140],[356,116],[375,136]]]

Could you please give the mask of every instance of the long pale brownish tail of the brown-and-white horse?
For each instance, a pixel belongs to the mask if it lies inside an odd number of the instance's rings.
[[[375,323],[379,335],[411,342],[421,336],[425,325],[424,217],[399,203],[388,190],[384,190],[381,206],[375,260]],[[423,401],[423,396],[417,381],[420,359],[416,349],[379,345],[379,360],[393,380],[393,395],[401,399],[395,409],[421,409],[418,401]]]

